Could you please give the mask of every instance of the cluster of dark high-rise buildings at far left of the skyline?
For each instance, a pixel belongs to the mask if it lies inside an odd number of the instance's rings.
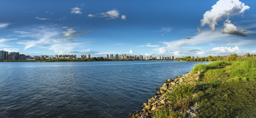
[[[0,50],[0,60],[26,60],[27,58],[30,58],[30,56],[19,52],[9,53],[8,51]]]

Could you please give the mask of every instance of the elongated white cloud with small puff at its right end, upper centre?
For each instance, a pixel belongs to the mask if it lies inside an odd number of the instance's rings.
[[[120,14],[119,10],[113,9],[113,10],[109,10],[105,13],[104,12],[103,13],[96,13],[95,15],[89,14],[87,16],[88,17],[107,17],[107,20],[108,20],[108,19],[117,19],[117,18],[119,18],[119,14]],[[121,18],[123,20],[125,20],[126,15],[122,15]]]

